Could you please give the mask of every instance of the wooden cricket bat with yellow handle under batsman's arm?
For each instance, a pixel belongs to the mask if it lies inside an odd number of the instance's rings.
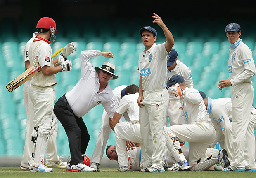
[[[63,48],[56,51],[54,54],[52,54],[51,58],[55,57],[55,55],[60,53],[62,50],[63,50]],[[37,62],[35,65],[31,66],[29,69],[27,69],[25,72],[23,72],[22,74],[17,76],[15,79],[13,79],[9,83],[7,83],[6,89],[9,92],[12,92],[13,90],[15,90],[16,88],[21,86],[23,83],[25,83],[26,81],[31,79],[31,77],[33,77],[34,75],[36,75],[40,71],[41,71],[41,66]]]

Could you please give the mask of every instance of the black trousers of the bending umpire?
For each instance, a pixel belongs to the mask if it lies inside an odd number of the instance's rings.
[[[65,95],[60,97],[54,105],[54,114],[62,123],[69,138],[69,149],[71,155],[71,165],[83,162],[81,153],[85,154],[90,135],[82,118],[78,118],[73,113]]]

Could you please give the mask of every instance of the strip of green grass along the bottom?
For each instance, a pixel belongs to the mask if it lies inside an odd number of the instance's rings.
[[[256,172],[118,172],[116,168],[101,168],[100,172],[77,173],[55,168],[52,173],[31,173],[19,167],[1,167],[0,178],[255,178]]]

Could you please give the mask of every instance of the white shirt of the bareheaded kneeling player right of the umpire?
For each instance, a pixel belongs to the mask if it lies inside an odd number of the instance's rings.
[[[125,95],[119,102],[116,112],[122,114],[127,112],[131,123],[139,122],[139,106],[137,104],[137,99],[139,93],[134,93],[130,95]]]

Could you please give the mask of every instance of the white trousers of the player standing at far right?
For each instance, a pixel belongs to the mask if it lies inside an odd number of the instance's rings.
[[[244,167],[244,161],[250,162],[250,159],[255,161],[255,137],[254,129],[249,125],[251,117],[251,106],[254,98],[254,88],[251,83],[244,82],[231,88],[232,100],[232,145],[233,145],[233,160],[232,166]],[[251,147],[254,146],[254,154]],[[247,147],[248,154],[245,153]],[[254,164],[255,165],[255,164]],[[248,165],[247,165],[248,166]],[[251,169],[251,167],[245,167]],[[255,166],[253,168],[256,168]]]

